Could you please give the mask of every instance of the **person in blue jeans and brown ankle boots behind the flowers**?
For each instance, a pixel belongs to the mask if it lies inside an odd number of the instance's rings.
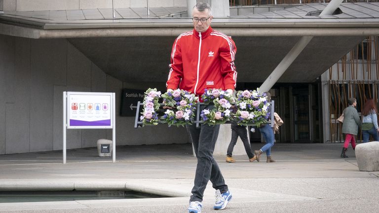
[[[269,92],[265,92],[265,93],[267,95],[267,101],[271,102],[271,94]],[[271,113],[273,113],[273,109],[271,109]],[[270,121],[270,120],[268,120],[268,121]],[[274,136],[274,130],[272,129],[272,127],[269,123],[262,124],[259,127],[259,130],[261,131],[261,134],[262,134],[263,139],[265,140],[266,144],[264,146],[262,146],[261,149],[254,151],[255,157],[256,157],[258,162],[260,161],[260,157],[261,157],[261,154],[263,152],[266,152],[266,156],[267,156],[266,162],[267,163],[275,162],[275,160],[273,160],[271,158],[271,147],[274,145],[275,136]]]

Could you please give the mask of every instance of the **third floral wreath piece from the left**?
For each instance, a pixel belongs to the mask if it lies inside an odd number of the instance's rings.
[[[231,107],[234,104],[234,98],[232,94],[222,89],[205,89],[201,99],[206,105],[210,103],[215,105],[215,108],[211,110],[203,109],[201,111],[200,118],[204,124],[224,124],[233,119]]]

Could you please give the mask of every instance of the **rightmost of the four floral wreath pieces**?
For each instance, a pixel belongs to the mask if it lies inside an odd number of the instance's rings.
[[[270,116],[268,111],[270,103],[267,101],[267,95],[261,93],[259,88],[257,90],[238,91],[236,98],[237,112],[235,118],[237,124],[254,124],[259,127],[261,124],[267,123]]]

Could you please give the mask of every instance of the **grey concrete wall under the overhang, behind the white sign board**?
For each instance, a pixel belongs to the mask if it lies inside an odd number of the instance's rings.
[[[115,92],[117,145],[188,142],[184,128],[134,129],[134,117],[119,117],[126,83],[105,74],[66,39],[0,35],[0,47],[0,154],[62,149],[63,91]],[[67,148],[93,147],[101,138],[112,140],[112,130],[68,130]]]

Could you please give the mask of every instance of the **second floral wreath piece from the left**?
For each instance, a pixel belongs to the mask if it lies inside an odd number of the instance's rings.
[[[198,99],[194,94],[177,89],[162,94],[162,98],[164,108],[168,108],[161,117],[162,123],[167,123],[168,126],[192,124]]]

